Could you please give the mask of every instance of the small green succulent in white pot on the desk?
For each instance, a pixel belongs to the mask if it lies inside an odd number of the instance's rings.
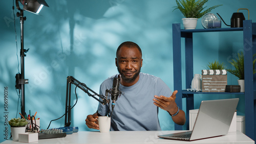
[[[25,133],[28,122],[26,122],[26,119],[24,118],[12,118],[8,123],[11,126],[12,140],[17,141],[18,134]]]

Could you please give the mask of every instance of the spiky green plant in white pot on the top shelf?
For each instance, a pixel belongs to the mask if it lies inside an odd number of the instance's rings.
[[[215,8],[222,6],[217,5],[204,10],[206,8],[204,5],[207,2],[208,0],[198,0],[197,2],[195,0],[176,0],[177,6],[174,7],[174,10],[179,9],[184,15],[185,18],[182,18],[184,29],[196,29],[198,18],[201,18],[204,14],[209,13]]]

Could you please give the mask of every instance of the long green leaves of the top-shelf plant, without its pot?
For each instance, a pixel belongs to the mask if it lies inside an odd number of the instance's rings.
[[[174,7],[174,10],[179,9],[186,18],[201,18],[204,14],[222,6],[217,5],[204,10],[206,8],[204,5],[207,2],[208,0],[198,0],[197,2],[195,0],[176,0],[177,6]]]

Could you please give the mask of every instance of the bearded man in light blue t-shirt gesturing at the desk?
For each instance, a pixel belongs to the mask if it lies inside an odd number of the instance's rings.
[[[160,78],[140,73],[142,52],[139,45],[131,41],[120,44],[116,52],[116,66],[119,74],[100,85],[100,94],[103,94],[112,88],[113,78],[120,77],[122,94],[111,116],[111,131],[161,130],[158,107],[166,110],[176,124],[185,124],[185,113],[175,103],[178,91],[172,93]],[[111,113],[109,105],[99,103],[97,112],[86,118],[88,128],[99,129],[96,118],[107,115],[109,110]]]

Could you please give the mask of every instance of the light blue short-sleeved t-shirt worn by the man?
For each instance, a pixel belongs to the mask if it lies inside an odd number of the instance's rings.
[[[105,90],[113,86],[113,78],[106,79],[100,85],[100,94],[105,95]],[[111,117],[111,131],[157,131],[161,130],[158,119],[158,107],[153,103],[154,95],[170,97],[172,90],[158,77],[140,73],[139,81],[132,86],[123,86],[120,98],[117,99]],[[110,113],[112,112],[110,98]],[[106,115],[109,105],[99,103],[98,113]]]

